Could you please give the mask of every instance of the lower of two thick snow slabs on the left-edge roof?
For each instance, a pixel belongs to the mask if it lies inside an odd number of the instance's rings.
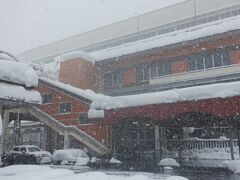
[[[41,95],[35,90],[26,90],[22,86],[0,83],[0,98],[30,102],[30,103],[41,103]]]

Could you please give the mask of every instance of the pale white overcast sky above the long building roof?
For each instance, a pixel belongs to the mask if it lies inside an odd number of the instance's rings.
[[[19,54],[184,0],[0,0],[0,49]]]

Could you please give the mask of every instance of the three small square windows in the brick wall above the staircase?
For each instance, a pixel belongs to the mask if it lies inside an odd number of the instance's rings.
[[[50,104],[50,103],[52,103],[52,100],[53,100],[52,94],[43,94],[42,95],[42,103],[43,104]],[[68,114],[68,113],[71,113],[71,111],[72,111],[72,104],[70,102],[61,103],[59,105],[59,113],[60,114]],[[83,113],[79,113],[78,122],[79,122],[79,124],[89,124],[89,123],[91,123],[91,120],[88,119],[87,113],[83,112]]]

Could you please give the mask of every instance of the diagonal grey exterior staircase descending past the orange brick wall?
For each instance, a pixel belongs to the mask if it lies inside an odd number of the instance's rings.
[[[92,151],[94,151],[97,155],[103,156],[110,152],[110,150],[104,146],[102,143],[89,136],[85,132],[81,131],[79,128],[75,126],[66,126],[50,115],[46,114],[42,110],[34,106],[28,106],[27,111],[41,122],[55,130],[57,133],[61,135],[65,135],[66,133],[78,141],[86,145]]]

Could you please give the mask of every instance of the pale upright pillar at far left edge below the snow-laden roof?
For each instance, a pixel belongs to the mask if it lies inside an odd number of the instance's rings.
[[[3,154],[6,150],[8,122],[9,122],[9,113],[6,111],[2,111],[2,135],[1,135],[1,142],[0,142],[0,154]]]

